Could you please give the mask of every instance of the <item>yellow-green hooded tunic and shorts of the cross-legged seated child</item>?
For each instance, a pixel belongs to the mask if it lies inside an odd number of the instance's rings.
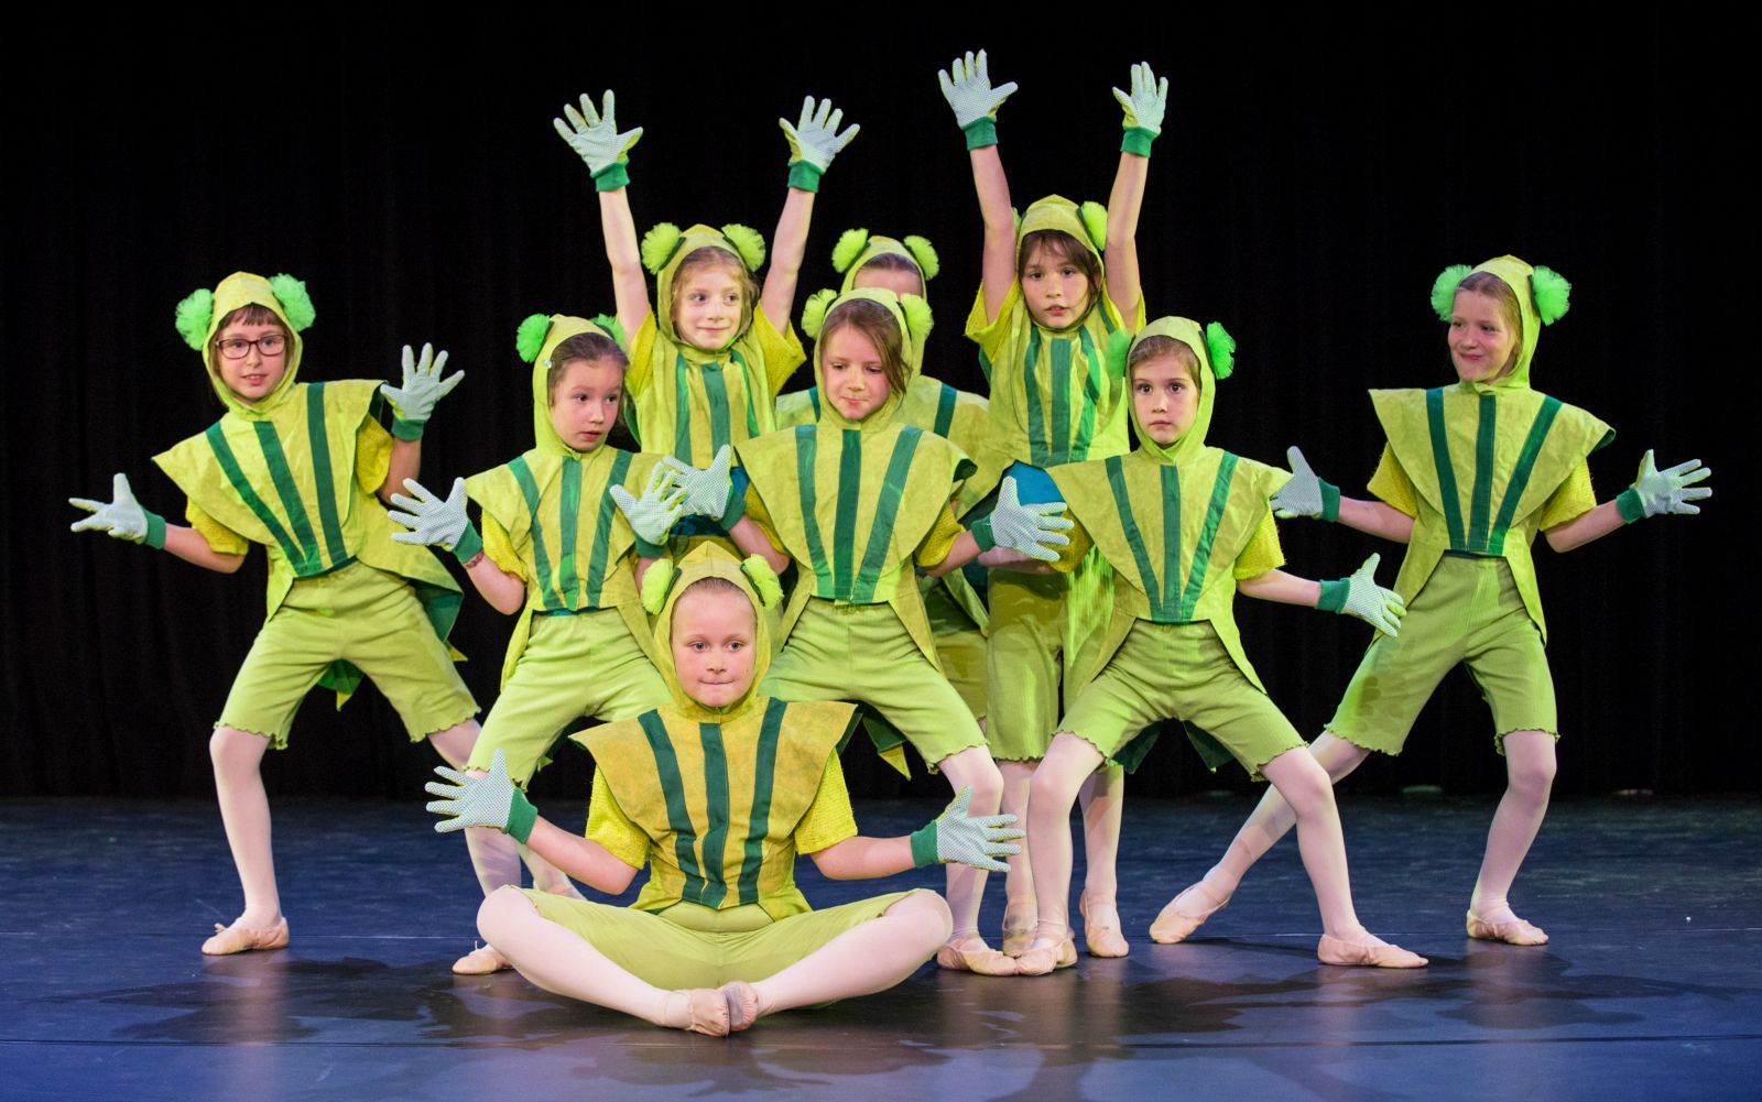
[[[826,797],[826,780],[839,776],[837,748],[856,709],[789,704],[756,688],[728,708],[687,697],[671,662],[673,607],[701,577],[731,581],[752,600],[752,685],[765,676],[768,618],[759,614],[752,583],[719,547],[700,546],[682,560],[655,621],[671,702],[574,736],[597,766],[589,836],[610,812],[599,801],[611,801],[615,817],[645,836],[648,882],[629,910],[529,893],[544,917],[663,988],[763,979],[877,917],[904,894],[809,912],[795,885],[796,836],[816,799]],[[832,787],[842,792],[840,780]],[[823,849],[855,834],[848,804],[821,812],[823,820],[842,817],[846,826],[821,824],[819,836],[802,845]]]

